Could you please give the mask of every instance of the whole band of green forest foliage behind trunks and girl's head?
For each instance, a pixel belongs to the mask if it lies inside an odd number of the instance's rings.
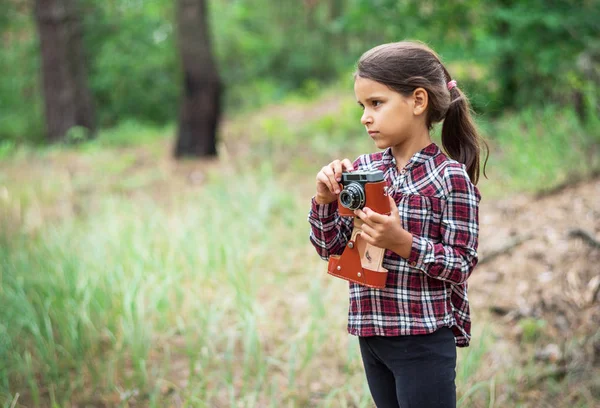
[[[176,118],[175,0],[80,0],[101,126]],[[42,130],[32,3],[0,20],[0,137]],[[600,8],[595,1],[212,0],[212,41],[230,110],[282,100],[347,72],[366,49],[412,38],[431,45],[480,113],[551,102],[598,116]]]

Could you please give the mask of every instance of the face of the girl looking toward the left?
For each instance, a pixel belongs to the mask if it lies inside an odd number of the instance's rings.
[[[363,107],[360,121],[378,149],[402,146],[418,134],[421,121],[414,115],[413,98],[361,77],[354,81],[354,94]]]

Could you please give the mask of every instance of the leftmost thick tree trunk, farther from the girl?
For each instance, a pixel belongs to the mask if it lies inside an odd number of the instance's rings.
[[[87,82],[81,21],[73,0],[36,0],[42,54],[46,133],[64,139],[74,126],[95,131],[95,111]]]

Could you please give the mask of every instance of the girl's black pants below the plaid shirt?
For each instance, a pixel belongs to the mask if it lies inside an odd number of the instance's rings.
[[[455,408],[456,345],[448,327],[419,336],[359,337],[378,408]]]

